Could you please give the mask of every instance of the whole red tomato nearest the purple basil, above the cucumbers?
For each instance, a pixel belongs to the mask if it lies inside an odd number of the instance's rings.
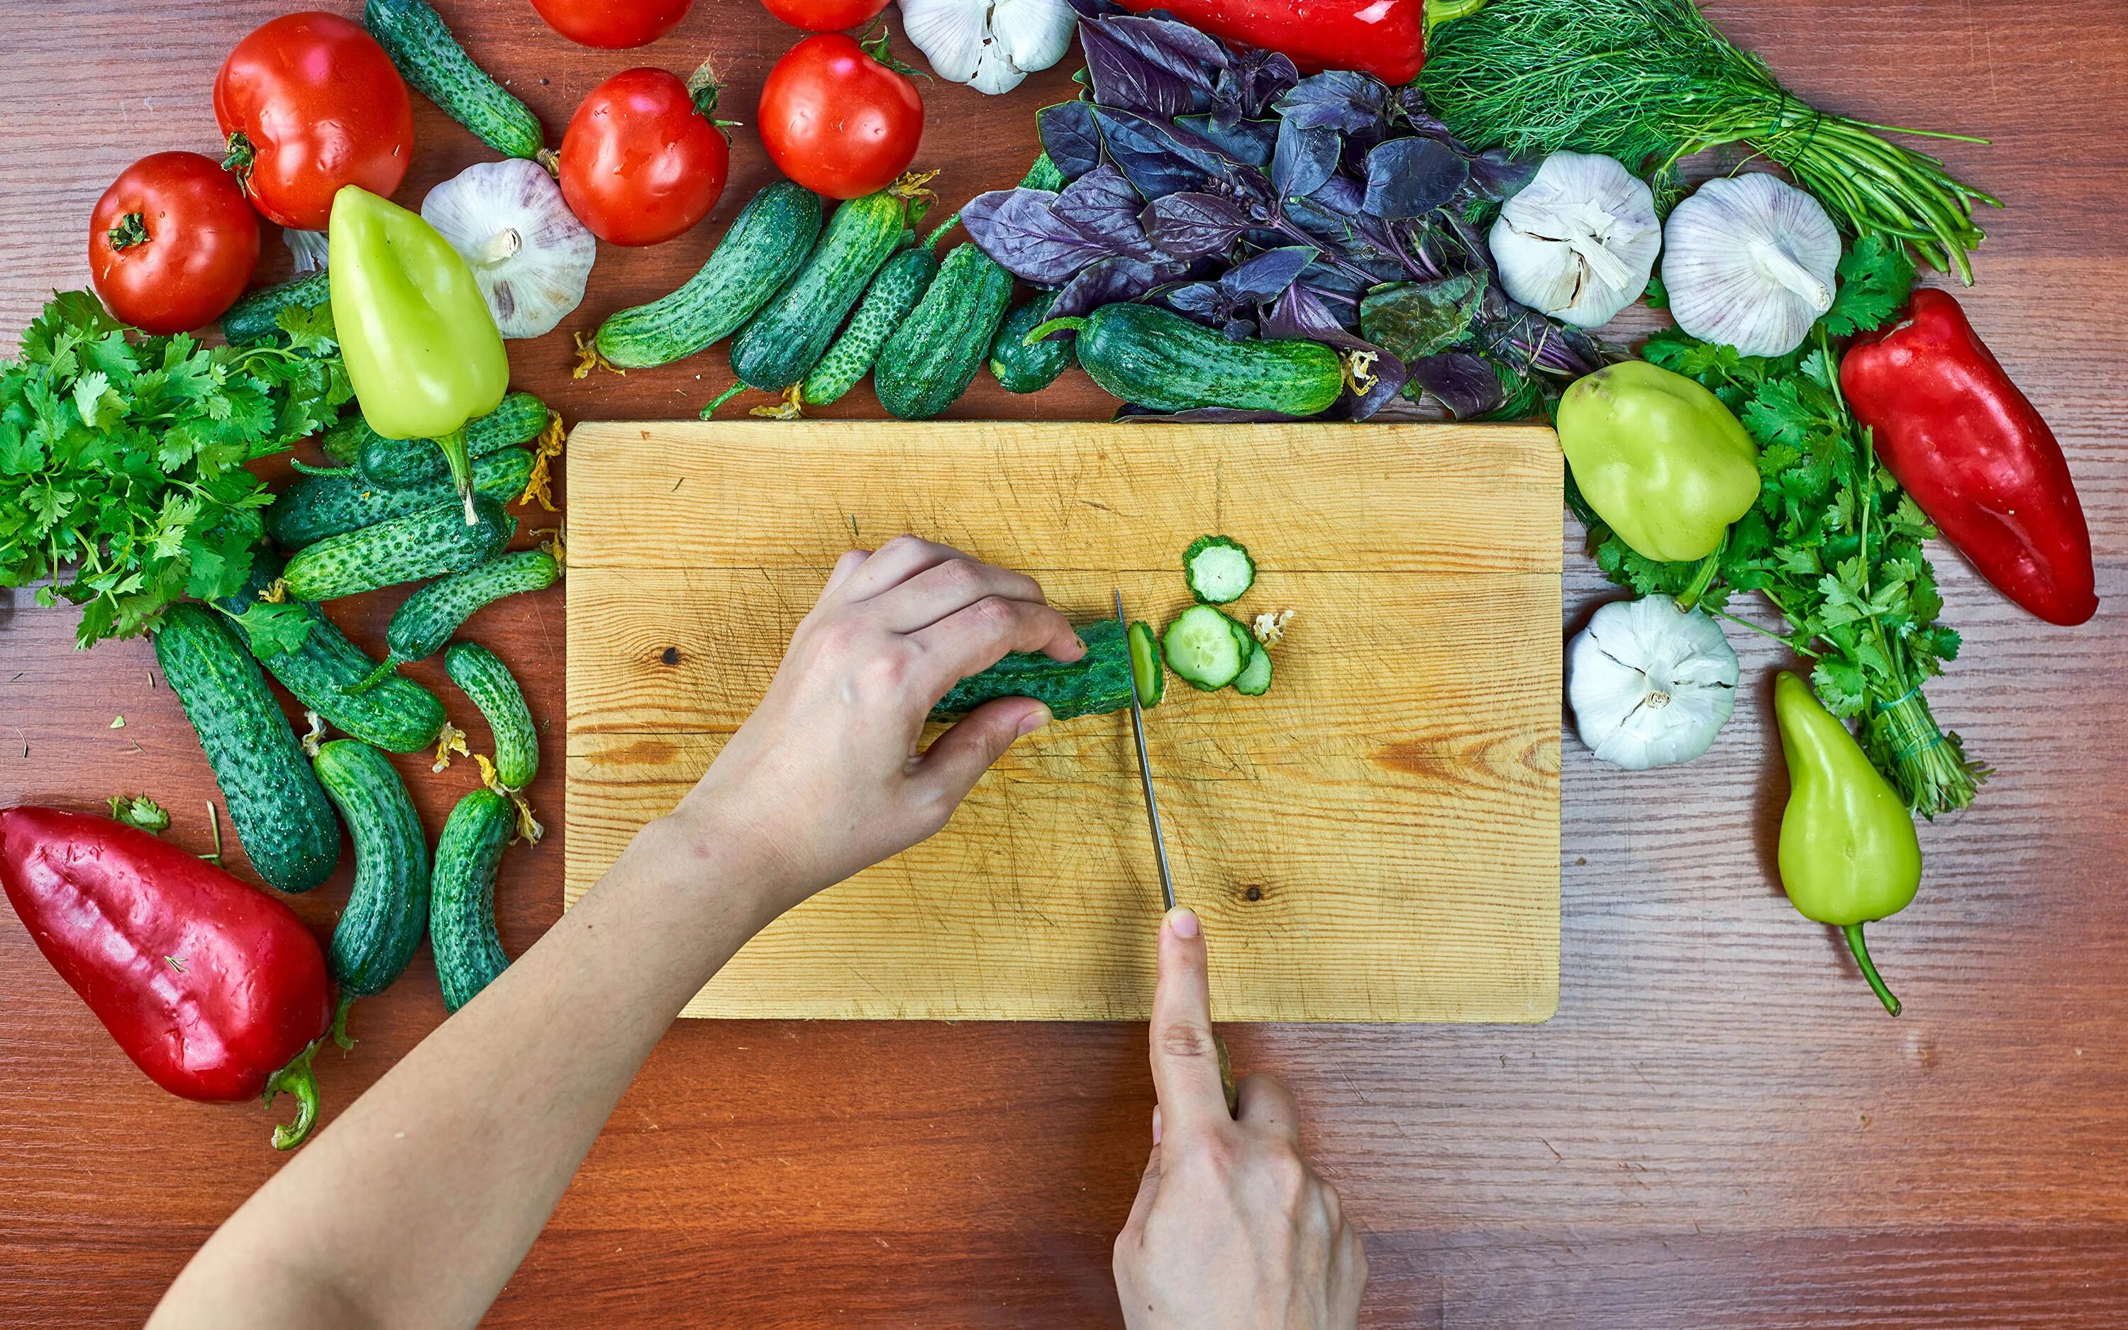
[[[917,85],[841,32],[792,47],[762,85],[768,160],[813,194],[885,189],[917,160],[921,138]]]

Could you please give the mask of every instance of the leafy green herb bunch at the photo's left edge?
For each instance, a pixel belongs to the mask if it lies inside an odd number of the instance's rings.
[[[47,581],[38,604],[79,604],[83,647],[234,594],[272,502],[245,462],[353,396],[330,309],[283,311],[281,330],[287,347],[204,347],[55,296],[0,362],[0,587]]]

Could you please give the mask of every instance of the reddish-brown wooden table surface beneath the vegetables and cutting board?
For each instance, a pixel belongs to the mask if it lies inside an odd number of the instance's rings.
[[[0,9],[0,345],[51,287],[85,285],[85,219],[119,168],[213,151],[213,72],[283,6]],[[636,53],[568,47],[523,0],[438,6],[551,134],[598,79],[704,55],[730,81],[732,119],[753,119],[760,79],[794,38],[751,0],[698,0]],[[1922,898],[1871,930],[1907,1000],[1898,1021],[1773,879],[1785,779],[1766,698],[1781,660],[1732,632],[1747,692],[1700,762],[1624,775],[1566,738],[1553,1021],[1236,1026],[1234,1058],[1300,1094],[1309,1147],[1368,1232],[1370,1326],[2117,1326],[2128,4],[1758,0],[1717,17],[1828,109],[1994,138],[1945,149],[2011,202],[1988,219],[1968,309],[2068,449],[2100,613],[2079,630],[2041,626],[1939,549],[1966,653],[1930,698],[1996,779],[1977,807],[1922,830]],[[921,160],[943,168],[947,202],[1019,177],[1032,113],[1066,96],[1066,72],[1002,100],[926,85]],[[417,138],[404,202],[481,155],[428,104]],[[743,130],[715,219],[660,249],[602,251],[570,323],[677,285],[764,179]],[[517,385],[570,421],[687,415],[728,383],[721,351],[581,383],[568,362],[562,334],[513,345]],[[864,392],[845,406],[877,413]],[[1077,377],[1034,400],[992,385],[958,406],[1107,411]],[[1568,541],[1573,630],[1611,592]],[[377,647],[392,598],[355,609],[351,632]],[[549,809],[562,613],[549,592],[479,624],[549,721],[534,789]],[[174,809],[172,834],[206,849],[215,787],[151,651],[106,643],[83,658],[70,641],[70,613],[0,594],[0,804],[147,789]],[[419,779],[432,828],[470,781],[464,768]],[[560,836],[513,851],[500,902],[513,953],[553,921],[560,883]],[[343,892],[345,875],[296,904],[326,928]],[[321,1060],[328,1117],[440,1017],[426,962],[366,1002],[362,1047]],[[1145,1032],[1130,1026],[683,1024],[487,1324],[1115,1324],[1109,1243],[1149,1109]],[[0,1324],[138,1324],[275,1168],[266,1130],[260,1109],[155,1090],[0,913]]]

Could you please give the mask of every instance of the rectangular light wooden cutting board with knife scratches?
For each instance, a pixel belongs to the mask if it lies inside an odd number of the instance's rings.
[[[1292,609],[1264,698],[1147,713],[1175,887],[1247,1021],[1541,1021],[1560,966],[1560,449],[1477,426],[585,423],[568,445],[568,890],[679,802],[836,555],[898,532],[1075,621]],[[1130,717],[1021,741],[919,845],[749,943],[704,1017],[1143,1019]]]

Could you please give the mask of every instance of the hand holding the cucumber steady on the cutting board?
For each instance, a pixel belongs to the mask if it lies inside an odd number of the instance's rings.
[[[1070,662],[1085,645],[1032,577],[915,536],[853,549],[675,817],[696,836],[749,838],[781,913],[938,832],[990,764],[1049,721],[1032,698],[1000,698],[917,751],[938,698],[1007,651]]]

